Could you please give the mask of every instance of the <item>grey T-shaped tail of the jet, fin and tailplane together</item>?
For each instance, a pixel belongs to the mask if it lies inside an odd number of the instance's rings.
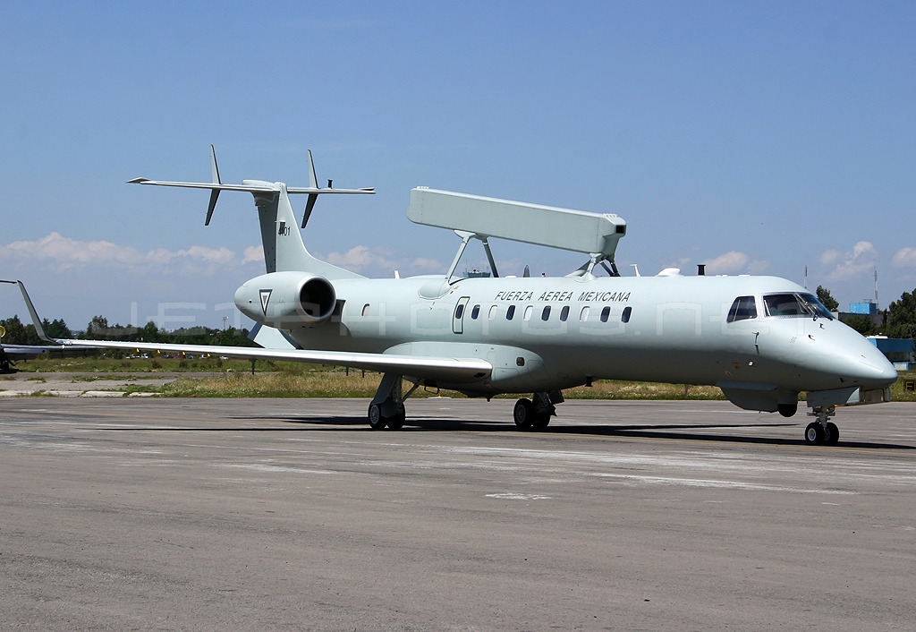
[[[362,278],[355,272],[338,268],[335,265],[315,259],[305,248],[296,216],[293,214],[289,195],[307,194],[305,212],[302,216],[302,227],[309,222],[311,211],[321,194],[375,194],[372,187],[364,189],[334,189],[332,181],[327,187],[318,186],[315,175],[315,164],[309,150],[309,186],[287,186],[285,183],[268,183],[263,180],[243,180],[241,184],[224,184],[216,166],[216,152],[210,146],[212,183],[181,183],[161,180],[135,178],[128,180],[132,184],[154,184],[157,186],[179,186],[188,189],[210,189],[210,203],[207,205],[207,216],[204,224],[209,226],[213,217],[216,200],[223,191],[247,191],[255,196],[257,215],[261,225],[261,242],[264,245],[264,264],[267,272],[311,272],[329,280]]]

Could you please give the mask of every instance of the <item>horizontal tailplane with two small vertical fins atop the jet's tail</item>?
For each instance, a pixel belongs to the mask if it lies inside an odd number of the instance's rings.
[[[268,183],[263,180],[243,180],[241,184],[225,184],[220,178],[220,170],[216,164],[216,150],[213,145],[210,146],[210,168],[213,176],[213,182],[209,183],[183,183],[170,182],[165,180],[149,180],[148,178],[134,178],[128,180],[130,184],[153,184],[155,186],[178,186],[186,189],[210,189],[210,202],[207,205],[207,216],[204,220],[204,226],[210,226],[210,220],[213,217],[213,209],[216,208],[216,200],[223,191],[246,191],[254,194],[255,198],[265,197],[276,199],[282,190],[287,194],[307,194],[309,196],[305,204],[305,214],[302,216],[302,227],[309,223],[311,211],[315,207],[315,202],[321,194],[375,194],[375,187],[365,187],[362,189],[333,189],[331,180],[328,180],[328,186],[320,187],[318,177],[315,175],[315,163],[309,152],[309,186],[287,186],[284,183]]]

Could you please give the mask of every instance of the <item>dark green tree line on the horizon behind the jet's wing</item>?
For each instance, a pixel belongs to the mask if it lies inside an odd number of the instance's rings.
[[[0,319],[0,327],[6,333],[3,342],[8,345],[41,345],[45,342],[38,338],[35,326],[24,325],[19,316]],[[224,345],[226,347],[257,347],[248,339],[248,330],[215,329],[212,327],[181,327],[173,331],[157,327],[156,323],[149,321],[143,327],[127,327],[122,325],[109,325],[104,316],[93,316],[85,331],[74,332],[62,318],[41,321],[41,327],[50,338],[81,338],[88,340],[120,340],[124,342],[165,342],[171,344],[187,345]]]

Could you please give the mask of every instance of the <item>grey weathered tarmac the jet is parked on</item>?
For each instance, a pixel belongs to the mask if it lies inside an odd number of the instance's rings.
[[[916,629],[916,405],[0,401],[0,628]]]

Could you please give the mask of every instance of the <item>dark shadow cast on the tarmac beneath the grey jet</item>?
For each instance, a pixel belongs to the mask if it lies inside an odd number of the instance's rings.
[[[279,421],[288,424],[298,424],[307,426],[310,430],[331,430],[331,431],[358,431],[358,432],[378,432],[366,425],[363,416],[234,416],[233,419],[246,420],[264,420]],[[345,428],[342,428],[345,427]],[[550,436],[556,435],[591,435],[599,437],[638,437],[638,438],[671,438],[681,441],[721,441],[726,443],[750,443],[758,445],[771,446],[798,446],[805,445],[803,438],[781,438],[765,436],[744,436],[734,434],[704,434],[699,432],[690,432],[690,430],[713,430],[721,428],[761,428],[761,432],[766,432],[766,428],[777,427],[799,427],[798,424],[659,424],[659,425],[638,425],[638,426],[584,426],[584,425],[556,425],[546,427],[542,430],[525,430],[528,435]],[[254,429],[254,428],[247,428]],[[279,430],[280,428],[273,428]],[[306,429],[306,428],[302,428]],[[465,431],[465,432],[511,432],[516,431],[516,427],[506,422],[496,421],[467,421],[446,418],[414,418],[408,417],[404,427],[397,432],[434,432],[442,430]],[[383,432],[391,432],[383,430]],[[840,438],[837,444],[839,448],[858,448],[858,449],[916,449],[916,446],[907,446],[893,443],[873,443],[869,441],[845,441]]]

